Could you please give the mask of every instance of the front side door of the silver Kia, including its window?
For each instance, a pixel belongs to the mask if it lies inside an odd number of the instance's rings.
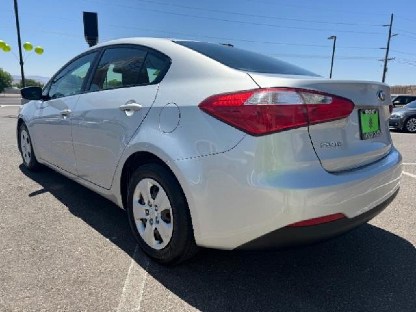
[[[44,90],[47,100],[35,105],[31,134],[37,156],[76,174],[72,146],[72,112],[97,52],[85,54],[58,72]]]

